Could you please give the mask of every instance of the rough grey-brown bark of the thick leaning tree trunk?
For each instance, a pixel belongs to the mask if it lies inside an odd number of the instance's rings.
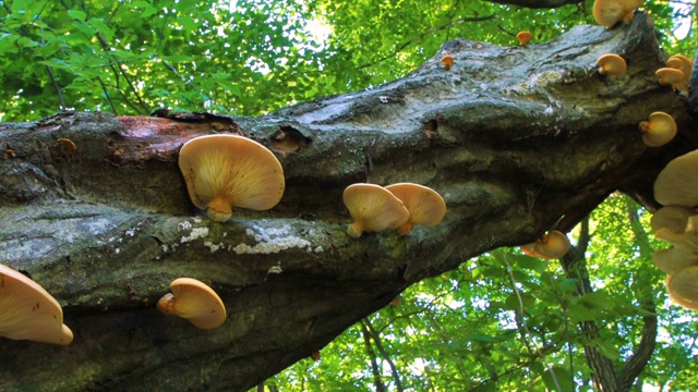
[[[385,86],[256,119],[62,113],[0,124],[0,262],[52,293],[75,334],[68,347],[0,340],[0,389],[245,390],[409,284],[568,230],[616,189],[651,208],[658,171],[698,147],[683,99],[657,83],[665,54],[642,14],[527,48],[454,40],[443,51],[450,71],[437,53]],[[627,58],[626,76],[595,72],[606,52]],[[679,134],[647,148],[637,126],[655,110]],[[212,131],[277,151],[287,179],[277,207],[237,210],[225,224],[197,217],[178,149]],[[404,181],[437,189],[445,221],[350,238],[344,188]],[[182,275],[219,293],[220,329],[156,311]]]

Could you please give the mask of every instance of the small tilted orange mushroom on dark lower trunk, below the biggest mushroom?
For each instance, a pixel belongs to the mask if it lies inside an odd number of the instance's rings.
[[[189,320],[194,327],[214,329],[226,321],[226,307],[218,294],[206,283],[192,278],[178,278],[170,283],[172,293],[157,302],[157,309],[167,316]]]

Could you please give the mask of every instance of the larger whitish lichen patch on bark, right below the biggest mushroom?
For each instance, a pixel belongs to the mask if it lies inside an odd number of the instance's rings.
[[[239,244],[231,247],[230,250],[238,255],[245,254],[275,254],[281,250],[299,248],[305,252],[313,252],[310,241],[291,234],[291,226],[284,225],[281,228],[265,229],[253,225],[248,229],[246,234],[257,242],[256,245]]]

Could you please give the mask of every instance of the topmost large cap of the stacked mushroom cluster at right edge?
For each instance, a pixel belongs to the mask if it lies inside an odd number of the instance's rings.
[[[698,150],[666,164],[654,181],[654,199],[663,206],[698,206]]]

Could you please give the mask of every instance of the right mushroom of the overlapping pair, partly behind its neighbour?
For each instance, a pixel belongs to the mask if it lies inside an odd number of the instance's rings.
[[[428,186],[398,183],[388,185],[385,188],[400,199],[410,213],[407,222],[397,229],[400,234],[411,233],[414,224],[436,225],[446,215],[446,203],[436,191]]]

